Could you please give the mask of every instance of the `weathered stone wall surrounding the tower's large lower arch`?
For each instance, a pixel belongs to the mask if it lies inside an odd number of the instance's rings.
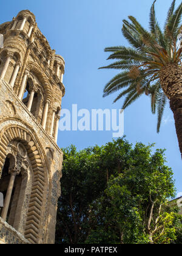
[[[38,243],[54,243],[56,207],[60,195],[60,184],[62,169],[62,152],[54,141],[47,135],[42,127],[36,122],[33,115],[27,110],[24,104],[19,101],[15,93],[10,90],[8,84],[0,81],[0,95],[4,98],[0,102],[0,134],[2,130],[9,127],[22,127],[29,134],[36,138],[36,146],[40,151],[40,157],[43,161],[45,189],[42,200],[41,226],[39,229]],[[19,136],[19,140],[24,138]],[[1,143],[2,145],[2,143]],[[4,157],[1,158],[0,161]],[[1,172],[0,172],[1,173]],[[19,213],[23,215],[24,213]],[[43,241],[42,241],[43,240]]]

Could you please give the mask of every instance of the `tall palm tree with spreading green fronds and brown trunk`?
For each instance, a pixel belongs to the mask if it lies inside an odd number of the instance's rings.
[[[114,102],[126,96],[123,109],[143,93],[150,96],[152,113],[158,114],[157,132],[169,101],[182,157],[182,2],[175,9],[172,1],[163,30],[155,16],[155,2],[150,10],[149,31],[133,16],[123,20],[122,32],[132,47],[105,49],[112,52],[108,59],[117,61],[102,68],[120,69],[121,73],[106,85],[103,96],[121,90]]]

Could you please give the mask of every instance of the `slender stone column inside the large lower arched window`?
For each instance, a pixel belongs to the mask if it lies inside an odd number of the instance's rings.
[[[12,196],[13,186],[15,183],[16,171],[13,169],[10,172],[10,174],[11,174],[10,182],[8,184],[8,189],[7,189],[7,193],[6,193],[5,201],[4,201],[4,207],[2,209],[2,214],[1,214],[1,218],[4,219],[4,221],[6,221],[8,208],[10,206],[10,200],[11,200],[11,196]]]

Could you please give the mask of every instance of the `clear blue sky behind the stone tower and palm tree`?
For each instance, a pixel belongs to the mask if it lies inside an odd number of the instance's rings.
[[[107,46],[127,45],[121,34],[122,20],[135,16],[148,27],[153,0],[16,0],[1,3],[0,23],[12,20],[20,10],[29,9],[36,16],[39,29],[52,49],[66,60],[64,85],[66,96],[62,108],[120,108],[112,105],[116,95],[103,98],[104,85],[118,72],[98,70],[109,64]],[[158,0],[157,16],[163,25],[171,0]],[[177,0],[177,4],[180,4]],[[167,165],[172,167],[178,192],[182,192],[182,166],[172,112],[167,108],[161,132],[157,134],[157,116],[150,112],[149,98],[143,96],[127,108],[124,133],[130,143],[156,143],[166,148]],[[58,145],[75,144],[78,149],[112,140],[112,132],[59,132]]]

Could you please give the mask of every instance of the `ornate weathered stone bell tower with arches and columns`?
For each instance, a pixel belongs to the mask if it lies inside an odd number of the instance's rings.
[[[61,194],[56,143],[64,59],[22,10],[0,25],[0,244],[52,244]]]

